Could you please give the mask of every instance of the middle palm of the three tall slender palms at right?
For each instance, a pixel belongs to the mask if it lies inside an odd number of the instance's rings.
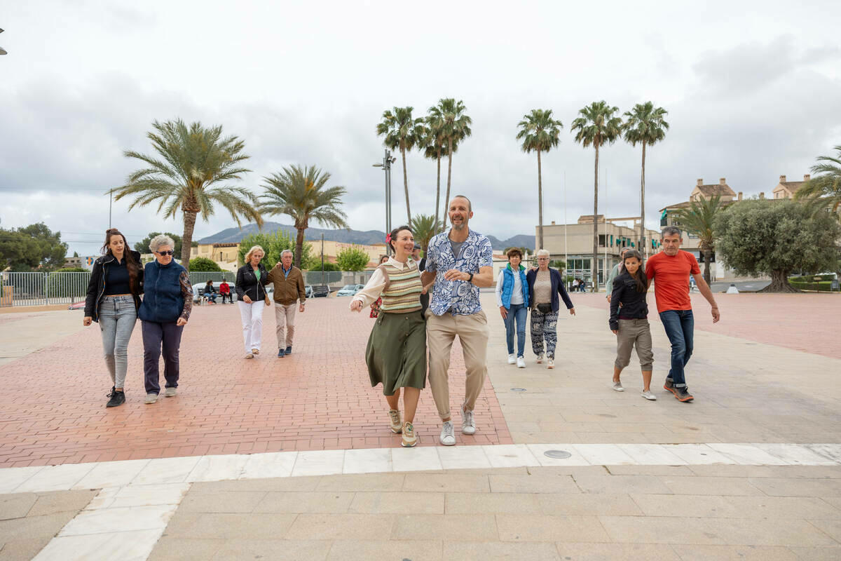
[[[599,289],[599,148],[605,143],[613,144],[621,135],[622,119],[613,114],[618,107],[608,106],[602,101],[594,101],[585,108],[579,109],[577,119],[573,121],[570,130],[575,133],[575,141],[586,148],[595,148],[595,182],[593,185],[593,292]]]

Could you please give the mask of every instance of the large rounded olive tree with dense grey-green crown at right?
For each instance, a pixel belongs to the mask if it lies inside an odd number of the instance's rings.
[[[717,254],[738,275],[770,275],[765,292],[796,292],[789,273],[818,273],[838,267],[835,242],[841,225],[832,214],[815,214],[785,199],[733,204],[715,220]]]

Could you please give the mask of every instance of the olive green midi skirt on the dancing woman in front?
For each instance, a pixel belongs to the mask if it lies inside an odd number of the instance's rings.
[[[380,312],[374,322],[365,363],[371,387],[383,384],[383,395],[399,388],[426,388],[426,320],[421,311]]]

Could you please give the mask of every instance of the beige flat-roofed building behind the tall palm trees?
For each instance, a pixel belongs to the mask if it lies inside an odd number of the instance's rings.
[[[619,252],[623,247],[637,246],[639,236],[639,217],[605,218],[596,216],[599,223],[599,278],[600,284],[606,282],[605,272],[610,274],[611,268],[619,262]],[[619,224],[621,222],[633,224]],[[537,247],[537,227],[535,228],[535,246]],[[656,230],[646,230],[646,246],[644,254],[650,255],[657,251],[660,233]],[[593,215],[580,216],[576,224],[543,225],[543,247],[549,251],[550,259],[567,262],[566,275],[583,278],[592,282],[593,261]]]

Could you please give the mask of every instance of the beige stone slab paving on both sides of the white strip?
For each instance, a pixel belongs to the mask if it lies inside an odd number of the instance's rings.
[[[696,401],[681,404],[661,389],[669,345],[652,320],[659,400],[648,402],[636,357],[627,391],[611,390],[615,342],[594,297],[559,321],[554,370],[530,351],[527,368],[506,363],[502,321],[483,298],[489,375],[516,443],[841,442],[837,358],[696,330]],[[714,462],[198,482],[151,554],[131,558],[841,559],[841,465]],[[0,561],[31,558],[93,495],[0,495]],[[47,551],[37,558],[107,558]]]

